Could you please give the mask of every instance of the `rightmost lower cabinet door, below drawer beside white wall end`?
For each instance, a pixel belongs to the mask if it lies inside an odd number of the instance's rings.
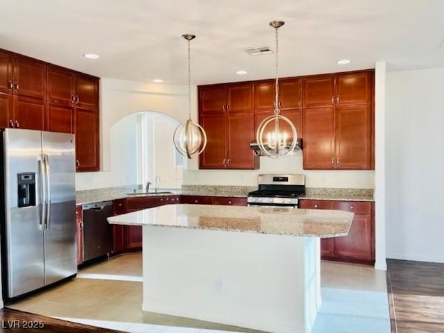
[[[343,259],[373,260],[373,225],[370,214],[355,214],[348,235],[334,239],[334,255]]]

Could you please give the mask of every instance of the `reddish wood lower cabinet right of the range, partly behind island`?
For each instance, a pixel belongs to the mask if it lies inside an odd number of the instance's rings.
[[[355,213],[347,236],[321,239],[321,259],[375,264],[373,203],[302,199],[299,207],[312,210],[345,210]]]

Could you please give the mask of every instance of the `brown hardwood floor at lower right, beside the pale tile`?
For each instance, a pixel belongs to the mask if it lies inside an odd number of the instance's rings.
[[[444,264],[387,259],[392,332],[444,332]]]

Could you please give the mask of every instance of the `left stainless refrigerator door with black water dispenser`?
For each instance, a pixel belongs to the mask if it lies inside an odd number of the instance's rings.
[[[44,286],[42,193],[40,157],[41,132],[6,129],[3,133],[5,182],[5,234],[8,297],[19,296]],[[34,202],[26,196],[26,181],[34,175]],[[30,178],[26,178],[26,177]],[[28,180],[26,180],[28,179]],[[24,180],[22,182],[21,180]],[[29,196],[31,198],[31,196]],[[20,206],[20,207],[19,207]]]

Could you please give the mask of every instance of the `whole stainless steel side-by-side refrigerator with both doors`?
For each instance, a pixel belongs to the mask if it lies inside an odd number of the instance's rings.
[[[1,130],[5,298],[76,275],[75,159],[74,135]]]

